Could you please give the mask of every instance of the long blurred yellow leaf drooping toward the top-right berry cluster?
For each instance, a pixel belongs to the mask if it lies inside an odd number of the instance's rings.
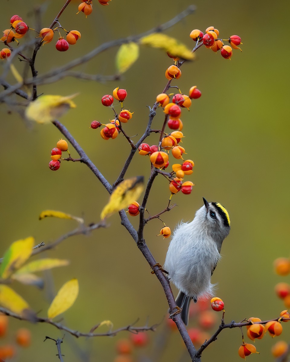
[[[195,55],[184,44],[175,38],[171,38],[165,34],[153,33],[140,39],[142,45],[148,45],[153,48],[163,49],[172,56],[186,60],[193,60]]]

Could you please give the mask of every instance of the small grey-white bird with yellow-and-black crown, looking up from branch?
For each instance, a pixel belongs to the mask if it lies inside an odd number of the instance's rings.
[[[180,223],[170,241],[164,269],[179,289],[176,304],[188,323],[189,303],[213,295],[211,275],[220,259],[221,244],[230,230],[228,211],[218,202],[207,202],[191,222]]]

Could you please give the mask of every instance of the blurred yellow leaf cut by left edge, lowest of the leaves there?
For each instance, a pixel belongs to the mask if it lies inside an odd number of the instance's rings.
[[[7,285],[0,285],[0,304],[4,308],[8,308],[14,313],[22,314],[24,310],[29,309],[29,305],[25,300],[13,289]]]

